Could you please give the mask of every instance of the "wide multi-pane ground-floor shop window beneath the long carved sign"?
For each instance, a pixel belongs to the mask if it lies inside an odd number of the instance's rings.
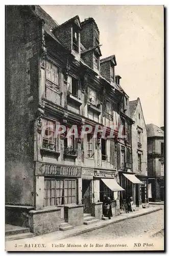
[[[76,180],[44,179],[44,207],[76,204]]]

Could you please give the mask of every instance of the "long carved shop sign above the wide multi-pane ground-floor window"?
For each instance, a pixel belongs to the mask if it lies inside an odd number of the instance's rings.
[[[36,175],[55,175],[80,178],[82,175],[82,167],[37,162]]]

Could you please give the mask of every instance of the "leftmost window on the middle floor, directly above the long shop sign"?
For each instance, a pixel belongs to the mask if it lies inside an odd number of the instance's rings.
[[[56,151],[55,141],[55,122],[44,120],[44,126],[46,126],[45,134],[43,137],[43,148],[47,150]]]

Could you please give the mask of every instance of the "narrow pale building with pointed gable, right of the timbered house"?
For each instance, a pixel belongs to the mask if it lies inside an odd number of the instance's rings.
[[[148,203],[148,172],[147,172],[147,130],[146,123],[141,108],[140,99],[129,102],[130,117],[133,119],[132,125],[132,156],[133,173],[141,180],[142,184],[135,184],[136,206]]]

